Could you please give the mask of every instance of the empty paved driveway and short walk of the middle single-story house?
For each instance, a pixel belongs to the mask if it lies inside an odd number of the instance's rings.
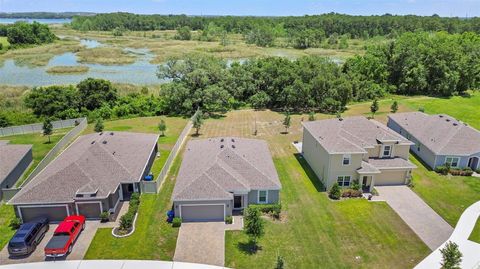
[[[234,216],[233,220],[233,224],[223,222],[182,223],[173,260],[224,266],[225,231],[243,228],[243,216]]]

